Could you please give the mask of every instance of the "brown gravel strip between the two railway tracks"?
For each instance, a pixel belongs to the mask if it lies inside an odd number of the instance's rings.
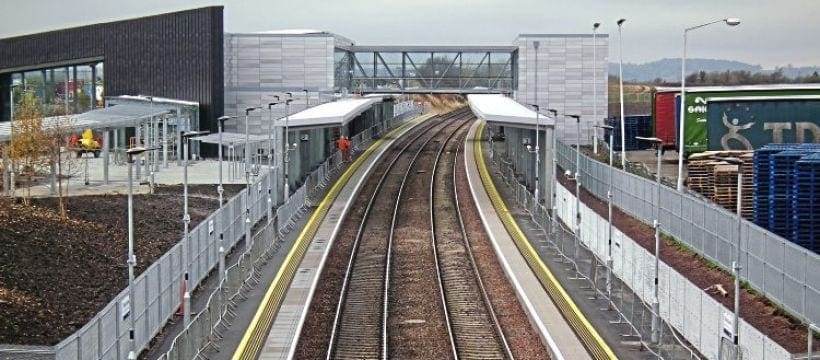
[[[399,199],[391,254],[390,358],[452,358],[433,257],[429,189],[438,149],[460,124],[451,122],[427,143],[410,168]]]

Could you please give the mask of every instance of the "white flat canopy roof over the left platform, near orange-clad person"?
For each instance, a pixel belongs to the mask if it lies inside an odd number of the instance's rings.
[[[317,105],[291,114],[288,126],[291,128],[324,128],[346,125],[361,113],[380,103],[379,97],[347,98]],[[285,118],[276,120],[276,126],[285,126]]]

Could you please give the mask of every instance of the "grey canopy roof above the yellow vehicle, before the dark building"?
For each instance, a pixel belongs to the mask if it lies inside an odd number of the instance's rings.
[[[56,126],[64,126],[69,131],[77,131],[131,127],[152,116],[161,116],[169,112],[168,109],[157,106],[152,110],[148,105],[123,104],[94,109],[82,114],[43,118],[43,129],[48,130]],[[0,123],[0,141],[8,141],[10,137],[11,123]]]

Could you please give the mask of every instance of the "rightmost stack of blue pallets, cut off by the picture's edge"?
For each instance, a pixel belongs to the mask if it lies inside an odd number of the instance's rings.
[[[795,171],[792,241],[820,252],[820,152],[798,160]]]

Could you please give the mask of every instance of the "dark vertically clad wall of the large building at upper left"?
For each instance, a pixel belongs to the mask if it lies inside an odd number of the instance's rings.
[[[0,108],[8,106],[10,69],[102,57],[106,96],[196,101],[200,129],[216,131],[224,109],[222,38],[222,7],[214,6],[0,39]]]

